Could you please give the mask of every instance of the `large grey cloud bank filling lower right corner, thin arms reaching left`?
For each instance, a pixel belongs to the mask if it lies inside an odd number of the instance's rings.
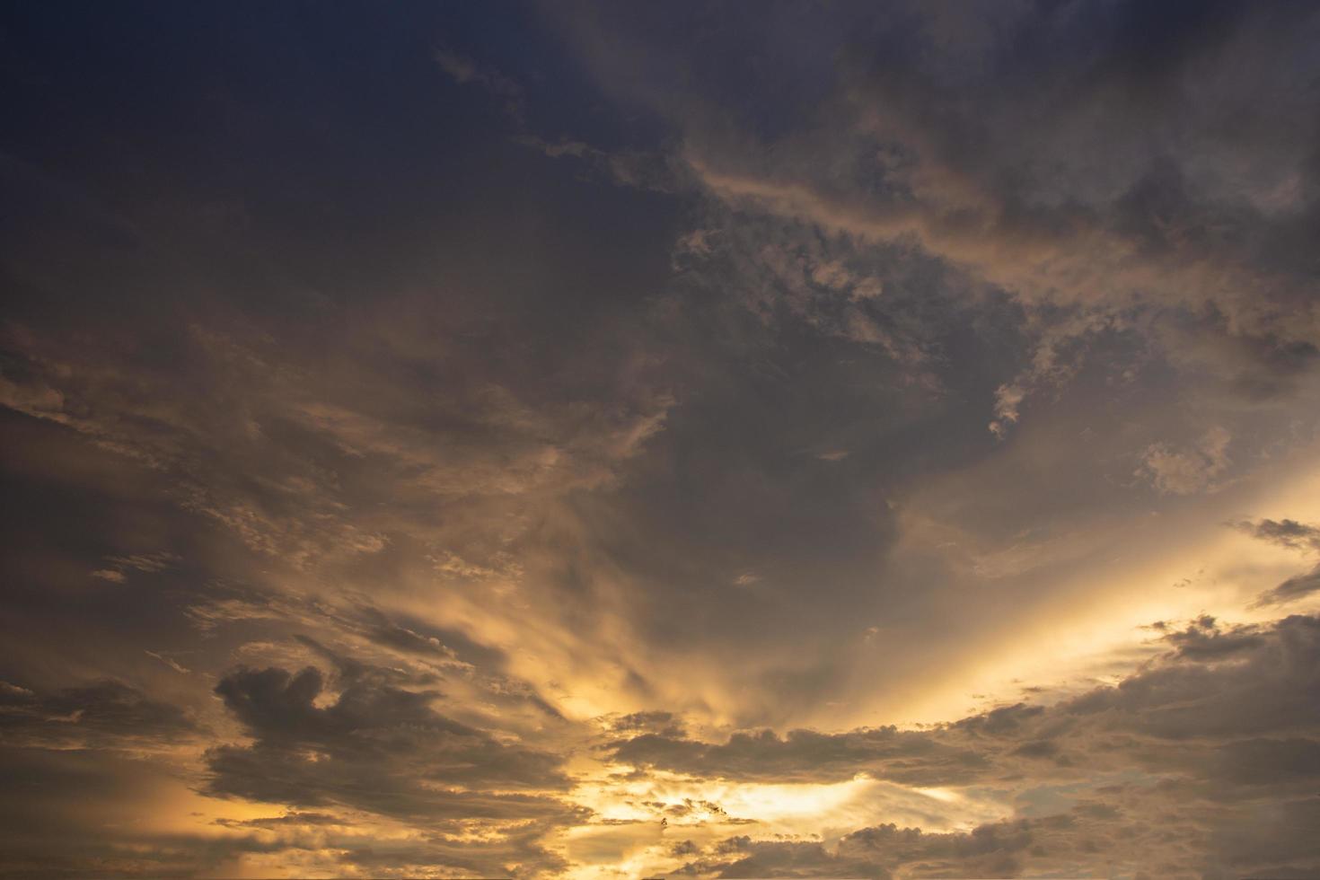
[[[1320,851],[1300,826],[1279,834],[1275,852],[1246,844],[1246,829],[1274,834],[1267,817],[1313,784],[1320,714],[1304,694],[1320,686],[1320,620],[1225,628],[1201,617],[1163,640],[1171,650],[1117,686],[1048,706],[917,731],[767,731],[723,743],[644,734],[616,741],[611,756],[698,778],[866,773],[923,789],[1007,789],[1018,805],[1019,818],[970,834],[891,825],[825,842],[730,838],[688,858],[684,871],[697,876],[1016,876],[1077,872],[1093,859],[1117,872],[1307,871]],[[1150,825],[1134,831],[1140,822]]]

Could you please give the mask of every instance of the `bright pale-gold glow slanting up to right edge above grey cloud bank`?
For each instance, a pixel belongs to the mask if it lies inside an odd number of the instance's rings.
[[[1239,621],[1272,619],[1271,610],[1246,606],[1295,573],[1302,557],[1229,526],[1269,507],[1295,511],[1304,521],[1320,520],[1320,464],[1313,450],[1299,450],[1262,476],[1263,486],[1230,488],[1180,516],[1147,513],[1126,524],[1106,565],[1060,577],[1057,600],[1040,603],[1011,632],[1001,633],[998,644],[977,649],[975,658],[945,678],[923,682],[921,697],[884,711],[907,723],[945,722],[978,703],[1020,699],[1026,685],[1047,694],[1055,690],[1057,697],[1114,682],[1164,650],[1148,629],[1154,621],[1206,613]],[[1320,599],[1299,610],[1317,604]]]

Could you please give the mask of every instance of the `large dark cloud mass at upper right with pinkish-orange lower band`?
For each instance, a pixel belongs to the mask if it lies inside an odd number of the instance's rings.
[[[618,88],[630,99],[684,132],[684,158],[737,223],[777,218],[800,247],[820,237],[915,247],[1014,297],[1035,336],[1028,355],[1055,358],[1057,369],[1047,379],[1028,364],[991,385],[1001,389],[986,401],[998,435],[1027,397],[1081,372],[1085,352],[1069,350],[1084,350],[1094,325],[1135,322],[1146,360],[1188,373],[1237,365],[1239,398],[1259,400],[1295,375],[1270,352],[1313,350],[1304,303],[1315,288],[1300,236],[1317,193],[1304,133],[1315,120],[1286,83],[1298,66],[1313,67],[1294,29],[1315,18],[1228,7],[1187,16],[1196,24],[1177,29],[1167,28],[1177,16],[1125,3],[1051,15],[1020,7],[993,22],[983,9],[899,7],[808,26],[780,11],[750,33],[711,13],[727,25],[730,54],[783,47],[804,29],[807,41],[838,49],[829,62],[797,59],[799,80],[779,88],[812,92],[810,112],[789,103],[751,119],[742,108],[763,92],[734,88],[735,75],[672,37],[601,11],[576,32],[602,79],[626,83]],[[1158,36],[1135,45],[1137,33]],[[609,50],[606,38],[630,51]],[[704,75],[669,80],[661,71],[675,58]],[[1225,73],[1224,58],[1236,59],[1237,74]],[[1226,112],[1253,119],[1261,135],[1225,131]],[[1275,247],[1265,244],[1271,234]],[[809,277],[832,286],[846,272],[824,260]],[[898,286],[882,274],[886,290]],[[1218,323],[1201,340],[1175,331],[1195,314]],[[1191,369],[1195,351],[1213,355]],[[1201,482],[1158,458],[1164,484]]]

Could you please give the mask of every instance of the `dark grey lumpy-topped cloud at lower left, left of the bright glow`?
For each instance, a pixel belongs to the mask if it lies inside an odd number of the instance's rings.
[[[322,689],[313,666],[297,674],[242,669],[220,681],[215,693],[255,743],[210,751],[209,790],[437,822],[574,814],[558,801],[517,794],[565,789],[560,757],[436,714],[433,693],[350,681],[318,706]]]

